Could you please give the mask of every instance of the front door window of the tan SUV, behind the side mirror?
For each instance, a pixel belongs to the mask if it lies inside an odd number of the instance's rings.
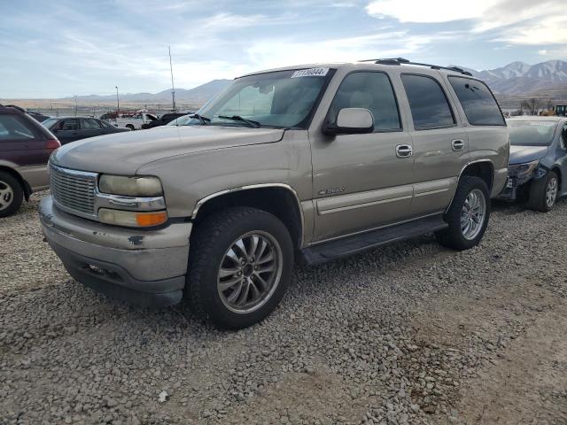
[[[364,108],[374,115],[374,131],[399,130],[400,114],[392,84],[385,73],[349,73],[330,105],[328,120],[335,123],[344,108]]]

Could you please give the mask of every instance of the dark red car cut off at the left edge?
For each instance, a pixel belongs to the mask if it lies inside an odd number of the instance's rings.
[[[22,200],[49,188],[47,162],[61,143],[19,109],[0,104],[0,217],[16,213]]]

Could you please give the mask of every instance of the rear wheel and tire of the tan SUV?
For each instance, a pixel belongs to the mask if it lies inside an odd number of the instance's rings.
[[[475,217],[478,220],[475,220]],[[485,235],[489,218],[490,195],[485,181],[465,175],[461,178],[453,202],[445,214],[449,227],[436,232],[435,236],[439,243],[447,248],[468,250],[478,245]]]

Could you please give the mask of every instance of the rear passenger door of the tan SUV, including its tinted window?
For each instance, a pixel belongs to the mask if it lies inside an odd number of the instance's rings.
[[[458,176],[470,160],[469,139],[443,81],[433,74],[402,73],[414,144],[414,216],[447,208]]]

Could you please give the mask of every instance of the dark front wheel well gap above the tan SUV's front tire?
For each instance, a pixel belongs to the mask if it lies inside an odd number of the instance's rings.
[[[290,189],[259,188],[237,190],[214,197],[198,209],[194,222],[205,220],[207,216],[231,206],[251,206],[266,211],[282,220],[288,229],[296,248],[301,247],[303,238],[303,223],[301,221],[300,205]]]

